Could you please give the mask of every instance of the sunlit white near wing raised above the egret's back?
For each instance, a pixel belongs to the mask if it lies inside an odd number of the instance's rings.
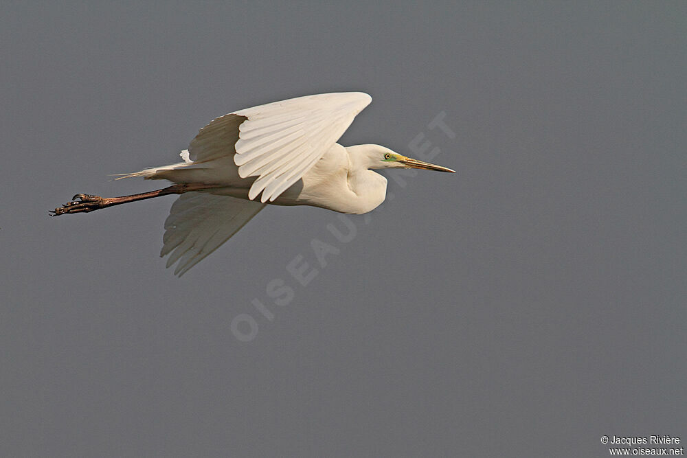
[[[241,178],[257,176],[248,197],[274,201],[310,170],[370,104],[370,95],[341,92],[273,102],[229,113],[191,141],[194,162],[234,154]]]

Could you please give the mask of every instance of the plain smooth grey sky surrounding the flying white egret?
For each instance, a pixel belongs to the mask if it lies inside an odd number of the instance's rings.
[[[687,441],[686,3],[91,3],[0,6],[2,455]],[[423,133],[458,173],[390,179],[348,244],[333,212],[268,207],[181,279],[172,197],[47,216],[154,189],[109,174],[178,161],[218,115],[330,91],[373,98],[341,143]],[[313,238],[340,253],[303,287]]]

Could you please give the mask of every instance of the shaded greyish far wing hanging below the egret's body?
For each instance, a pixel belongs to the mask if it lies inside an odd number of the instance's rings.
[[[160,256],[170,255],[167,267],[179,262],[174,275],[183,275],[229,240],[265,204],[203,192],[181,194],[165,221]]]

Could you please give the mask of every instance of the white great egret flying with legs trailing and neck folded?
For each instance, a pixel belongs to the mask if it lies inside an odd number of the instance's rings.
[[[371,101],[361,92],[327,93],[229,113],[200,130],[188,150],[181,152],[183,162],[120,176],[176,184],[132,196],[76,194],[52,216],[182,194],[165,221],[160,253],[170,255],[167,267],[178,262],[174,274],[181,276],[267,203],[363,214],[386,196],[387,180],[370,169],[453,172],[379,145],[337,144]]]

